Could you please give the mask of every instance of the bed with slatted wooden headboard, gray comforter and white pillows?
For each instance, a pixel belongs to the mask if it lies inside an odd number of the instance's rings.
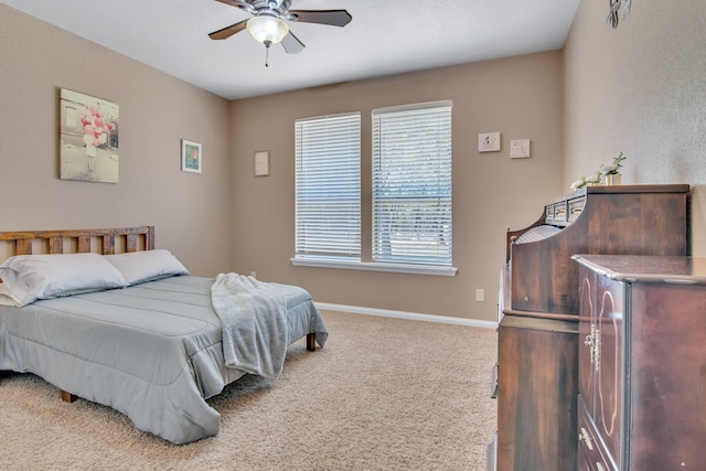
[[[206,399],[227,384],[277,379],[289,344],[313,351],[328,336],[302,288],[191,276],[154,248],[152,226],[0,233],[0,371],[34,373],[64,400],[113,407],[176,445],[218,432]]]

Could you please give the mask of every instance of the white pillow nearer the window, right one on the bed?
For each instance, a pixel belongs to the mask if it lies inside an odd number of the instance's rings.
[[[189,270],[181,261],[171,251],[164,249],[106,255],[105,258],[122,274],[128,285],[189,275]]]

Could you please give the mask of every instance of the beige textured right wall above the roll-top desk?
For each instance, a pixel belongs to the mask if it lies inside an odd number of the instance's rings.
[[[706,256],[706,2],[641,0],[617,30],[582,0],[565,47],[565,186],[623,151],[623,183],[689,183]]]

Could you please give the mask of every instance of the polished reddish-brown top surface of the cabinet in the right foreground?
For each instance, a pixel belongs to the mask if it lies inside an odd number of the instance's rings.
[[[706,258],[649,255],[575,255],[571,258],[618,281],[706,285]]]

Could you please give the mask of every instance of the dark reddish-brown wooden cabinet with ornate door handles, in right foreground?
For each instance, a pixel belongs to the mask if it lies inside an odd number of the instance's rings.
[[[578,469],[706,469],[706,259],[575,259]]]

